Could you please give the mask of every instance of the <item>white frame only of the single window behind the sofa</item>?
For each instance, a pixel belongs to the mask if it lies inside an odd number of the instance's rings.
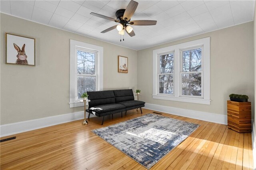
[[[84,106],[84,102],[79,102],[77,97],[77,49],[84,51],[92,51],[97,53],[95,57],[95,76],[96,77],[96,91],[103,90],[103,47],[89,43],[79,42],[70,39],[70,99],[69,107]]]

